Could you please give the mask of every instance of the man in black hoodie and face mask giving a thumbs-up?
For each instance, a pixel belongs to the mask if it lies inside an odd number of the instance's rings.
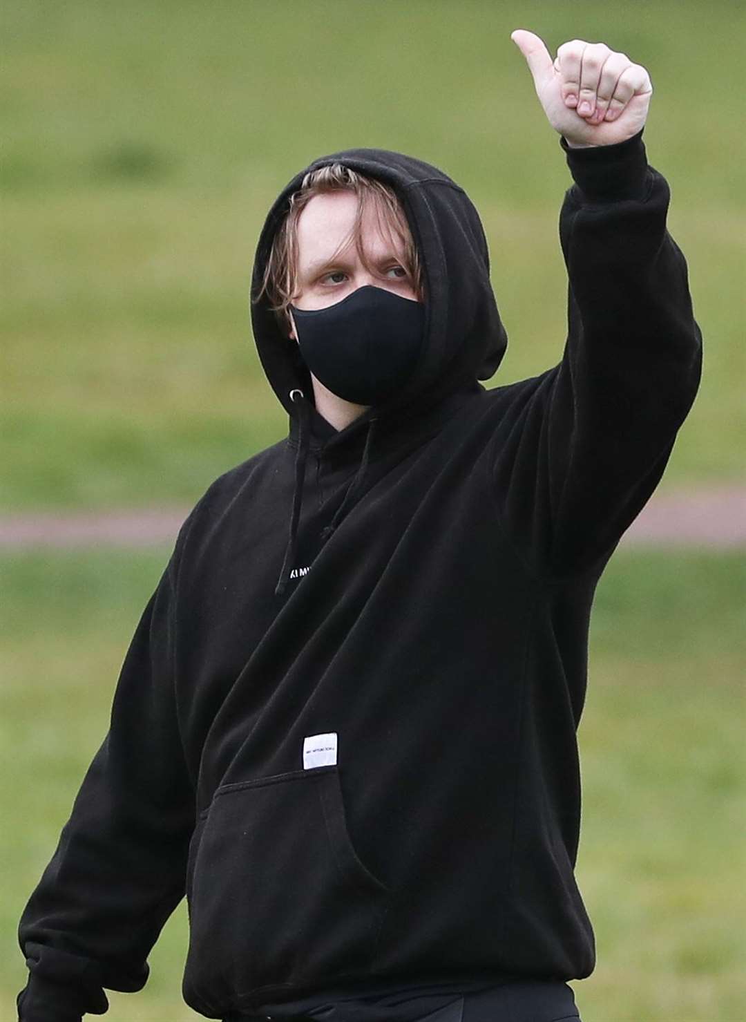
[[[252,315],[289,436],[180,531],[24,913],[26,1022],[139,989],[185,893],[208,1018],[576,1016],[591,603],[701,338],[647,72],[513,38],[574,178],[562,359],[478,382],[506,334],[478,216],[435,168],[348,150],[283,190]]]

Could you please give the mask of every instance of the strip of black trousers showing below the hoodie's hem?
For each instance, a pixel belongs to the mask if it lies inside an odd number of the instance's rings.
[[[387,998],[383,998],[387,1000]],[[415,998],[416,1001],[416,998]],[[572,989],[561,982],[556,983],[506,983],[503,986],[466,993],[449,998],[434,1012],[427,1010],[417,1013],[416,1003],[412,1003],[410,1022],[579,1022]],[[292,1022],[390,1022],[402,1018],[400,1011],[393,1012],[384,1003],[363,1005],[352,1002],[324,1011],[323,1016],[277,1015],[277,1022],[285,1019]],[[266,1015],[231,1015],[224,1022],[267,1022]]]

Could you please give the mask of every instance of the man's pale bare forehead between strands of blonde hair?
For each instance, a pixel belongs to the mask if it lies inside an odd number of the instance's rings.
[[[345,242],[355,250],[355,221],[358,196],[351,191],[325,192],[305,206],[297,221],[298,262],[301,267],[339,253]],[[386,230],[374,201],[369,201],[361,222],[361,242],[364,251],[400,251],[404,245],[398,233]]]

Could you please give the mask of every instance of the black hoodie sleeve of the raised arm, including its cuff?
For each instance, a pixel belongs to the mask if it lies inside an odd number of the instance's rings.
[[[642,130],[571,149],[560,214],[568,275],[562,361],[496,437],[508,531],[535,570],[605,560],[660,479],[699,384],[687,265],[666,230],[669,189]]]

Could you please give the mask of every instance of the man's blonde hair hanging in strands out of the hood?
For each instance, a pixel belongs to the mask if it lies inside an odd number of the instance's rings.
[[[420,299],[423,297],[420,259],[404,210],[393,189],[374,178],[364,177],[341,164],[330,164],[316,171],[310,171],[304,177],[300,188],[290,195],[289,210],[272,241],[262,287],[254,301],[259,301],[266,294],[271,310],[277,314],[281,323],[289,322],[288,307],[297,296],[297,222],[300,214],[315,195],[334,191],[348,191],[356,194],[358,212],[349,235],[332,258],[354,239],[363,266],[367,270],[371,269],[366,261],[362,237],[363,218],[370,207],[381,234],[392,244],[398,240],[402,245],[402,265],[410,276],[417,296]]]

